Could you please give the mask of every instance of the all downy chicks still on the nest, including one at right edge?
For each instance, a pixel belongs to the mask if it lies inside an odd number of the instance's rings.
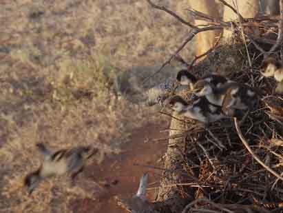
[[[274,58],[267,58],[262,65],[264,77],[274,77],[278,82],[276,92],[283,92],[283,68]],[[247,116],[258,104],[259,93],[245,83],[231,81],[218,74],[209,74],[197,79],[187,70],[180,70],[176,77],[179,85],[188,87],[197,97],[193,103],[187,103],[182,97],[175,95],[167,100],[170,108],[183,116],[212,123],[220,119]]]

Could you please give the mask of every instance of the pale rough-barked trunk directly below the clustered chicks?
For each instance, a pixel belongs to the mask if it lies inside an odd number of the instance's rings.
[[[177,119],[184,119],[173,113],[172,116]],[[169,136],[182,134],[189,128],[188,123],[178,121],[172,118]],[[160,181],[160,190],[158,192],[158,202],[164,202],[170,208],[170,212],[182,212],[187,203],[193,200],[193,194],[187,194],[187,198],[182,194],[182,188],[171,186],[175,183],[186,183],[188,176],[185,168],[183,153],[185,153],[185,137],[180,136],[175,139],[169,139],[168,148],[165,156],[165,172],[163,179]],[[193,193],[193,192],[189,192]]]

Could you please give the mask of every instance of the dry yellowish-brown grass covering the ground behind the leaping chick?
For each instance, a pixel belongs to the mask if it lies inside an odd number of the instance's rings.
[[[70,212],[78,195],[65,181],[44,181],[30,197],[22,187],[40,163],[35,143],[92,144],[101,161],[120,152],[131,130],[156,121],[115,95],[115,79],[120,70],[162,63],[187,29],[145,1],[115,3],[1,1],[0,212]],[[186,15],[186,1],[164,3]]]

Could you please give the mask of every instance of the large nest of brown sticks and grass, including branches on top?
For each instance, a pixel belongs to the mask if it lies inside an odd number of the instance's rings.
[[[169,13],[166,8],[158,8],[153,3],[151,6]],[[191,201],[182,212],[281,212],[283,95],[276,94],[274,79],[262,77],[261,66],[264,58],[271,54],[282,59],[283,1],[280,1],[281,19],[262,17],[247,20],[239,14],[238,23],[220,23],[200,12],[190,12],[195,19],[214,21],[215,24],[208,26],[207,30],[218,29],[218,26],[223,29],[227,28],[225,25],[232,24],[235,39],[227,43],[219,41],[215,48],[204,54],[206,59],[193,65],[200,57],[192,63],[180,57],[180,51],[193,37],[189,35],[163,66],[176,59],[187,65],[189,72],[197,77],[217,72],[233,81],[247,83],[258,92],[259,101],[247,117],[224,119],[209,126],[161,110],[162,114],[172,117],[172,122],[175,119],[182,123],[180,127],[185,127],[169,136],[169,139],[185,141],[185,149],[180,148],[183,162],[176,163],[187,171],[186,183],[171,185],[178,188],[182,197]],[[244,27],[249,23],[259,27],[257,38],[251,36],[251,28]],[[191,32],[197,34],[202,30],[193,28]],[[272,39],[274,34],[275,39]],[[188,90],[179,95],[187,101],[191,99]],[[175,146],[178,148],[178,143]]]

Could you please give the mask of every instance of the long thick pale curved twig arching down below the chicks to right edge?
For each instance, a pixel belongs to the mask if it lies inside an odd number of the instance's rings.
[[[277,177],[277,179],[280,179],[281,181],[283,181],[283,177],[280,176],[279,174],[277,174],[277,172],[275,172],[274,170],[272,170],[269,166],[265,165],[264,162],[262,162],[262,160],[260,160],[260,158],[253,152],[253,150],[251,150],[249,143],[247,143],[246,139],[244,139],[244,136],[242,135],[242,132],[239,128],[238,125],[238,121],[237,118],[234,117],[234,123],[235,123],[235,128],[237,130],[238,136],[240,137],[242,143],[244,144],[244,146],[247,148],[247,150],[249,151],[249,153],[253,156],[253,158],[258,161],[258,163],[260,163],[260,165],[262,165],[264,167],[264,169],[266,169],[267,171],[269,171],[271,174],[273,174],[274,176]]]

